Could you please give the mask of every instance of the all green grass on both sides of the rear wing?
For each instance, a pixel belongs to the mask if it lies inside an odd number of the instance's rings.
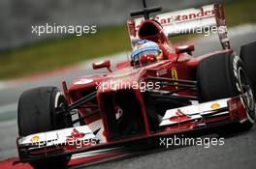
[[[228,26],[255,23],[256,1],[236,0],[225,4]],[[174,38],[180,42],[195,38]],[[29,46],[0,52],[0,79],[25,76],[55,70],[79,63],[82,60],[130,50],[125,25],[98,28],[94,35],[67,37],[59,40],[38,42]]]

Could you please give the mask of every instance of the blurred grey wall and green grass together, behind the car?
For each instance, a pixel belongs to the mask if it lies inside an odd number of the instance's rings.
[[[221,2],[229,26],[255,22],[253,0],[147,0],[164,11]],[[142,8],[141,0],[1,0],[0,79],[56,70],[81,60],[130,50],[125,20]],[[96,25],[97,33],[82,37],[70,34],[32,34],[31,26]]]

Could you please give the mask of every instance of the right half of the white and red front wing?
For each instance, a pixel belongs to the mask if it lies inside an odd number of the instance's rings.
[[[212,127],[229,122],[243,123],[247,120],[241,97],[218,99],[196,105],[167,110],[160,127],[165,130],[182,130]]]

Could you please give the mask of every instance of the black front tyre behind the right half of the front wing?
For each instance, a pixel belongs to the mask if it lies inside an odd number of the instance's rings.
[[[241,127],[247,130],[253,126],[255,101],[239,56],[220,53],[203,59],[198,66],[197,78],[200,102],[241,95],[248,117]]]

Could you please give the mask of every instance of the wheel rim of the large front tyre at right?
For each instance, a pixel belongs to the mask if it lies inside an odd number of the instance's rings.
[[[250,118],[249,120],[254,123],[255,102],[253,98],[253,92],[246,72],[241,67],[239,68],[239,82],[242,101],[244,103],[245,108],[247,109]]]

